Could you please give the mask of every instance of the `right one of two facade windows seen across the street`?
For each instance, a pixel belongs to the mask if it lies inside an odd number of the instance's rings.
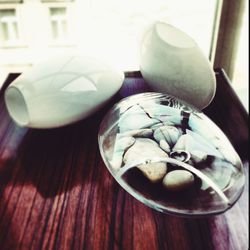
[[[50,8],[51,34],[55,41],[65,41],[68,34],[66,8]]]

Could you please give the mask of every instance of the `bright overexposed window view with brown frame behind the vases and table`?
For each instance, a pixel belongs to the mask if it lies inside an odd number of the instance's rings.
[[[197,42],[222,67],[248,110],[249,12],[246,0],[0,0],[0,87],[56,53],[85,51],[123,71],[139,69],[139,46],[155,20]]]

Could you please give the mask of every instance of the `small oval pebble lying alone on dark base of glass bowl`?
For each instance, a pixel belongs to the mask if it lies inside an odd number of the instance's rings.
[[[166,174],[162,183],[170,191],[182,191],[193,185],[194,176],[186,170],[174,170]]]

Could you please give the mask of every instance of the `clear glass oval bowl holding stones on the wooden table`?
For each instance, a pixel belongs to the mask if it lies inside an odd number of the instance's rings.
[[[244,188],[241,160],[224,133],[201,111],[169,95],[124,98],[104,117],[98,142],[116,181],[160,212],[219,214]]]

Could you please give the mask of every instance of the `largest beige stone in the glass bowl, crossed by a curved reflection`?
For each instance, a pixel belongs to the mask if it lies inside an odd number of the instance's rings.
[[[147,161],[156,157],[168,157],[158,144],[146,138],[138,138],[132,147],[130,147],[124,154],[123,161],[126,164],[134,161]],[[138,169],[151,181],[157,182],[161,180],[167,172],[167,164],[162,162],[147,163],[138,166]]]

